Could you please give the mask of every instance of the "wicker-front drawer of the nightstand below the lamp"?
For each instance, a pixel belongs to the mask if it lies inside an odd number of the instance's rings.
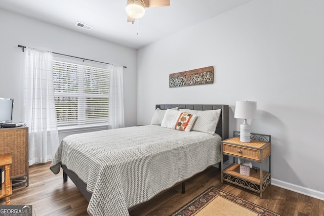
[[[223,153],[260,161],[260,150],[223,143]]]

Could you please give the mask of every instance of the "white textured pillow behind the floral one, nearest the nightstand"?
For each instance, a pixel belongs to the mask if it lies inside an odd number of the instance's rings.
[[[191,130],[204,132],[214,135],[216,132],[216,126],[219,122],[221,109],[217,110],[190,110],[190,109],[179,109],[181,112],[186,112],[197,116],[197,120],[193,124]]]

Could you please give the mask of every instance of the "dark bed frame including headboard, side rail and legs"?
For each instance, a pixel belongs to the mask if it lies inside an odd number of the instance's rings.
[[[216,127],[216,134],[222,137],[222,140],[228,139],[228,105],[218,104],[218,105],[206,105],[206,104],[158,104],[155,105],[155,109],[159,108],[161,110],[171,109],[178,107],[179,109],[192,109],[192,110],[216,110],[221,109],[221,117],[219,123]],[[223,161],[226,161],[226,158],[223,158]],[[220,162],[219,162],[220,163]],[[69,170],[65,165],[61,165],[63,169],[63,181],[67,181],[67,177],[69,177],[75,186],[79,189],[79,191],[84,195],[84,197],[89,201],[91,198],[92,193],[87,191],[87,184],[80,180],[77,175]],[[220,164],[218,167],[221,167]],[[185,181],[185,180],[184,180]],[[182,185],[182,193],[185,191],[185,184],[184,181],[181,183]]]

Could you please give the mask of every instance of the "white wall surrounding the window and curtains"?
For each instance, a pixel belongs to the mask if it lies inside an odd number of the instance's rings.
[[[23,45],[127,66],[124,68],[125,125],[136,125],[137,50],[2,9],[0,22],[0,97],[15,99],[14,121],[23,121],[24,113],[25,53],[18,48]]]

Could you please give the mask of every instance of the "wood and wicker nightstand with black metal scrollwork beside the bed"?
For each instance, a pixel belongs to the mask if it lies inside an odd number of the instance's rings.
[[[223,169],[223,160],[221,161],[221,183],[230,182],[240,187],[247,188],[260,193],[260,198],[266,187],[271,183],[271,136],[251,133],[251,142],[244,143],[239,141],[239,132],[233,132],[233,138],[222,141],[223,155],[233,157],[233,163]],[[258,162],[260,169],[250,169],[250,176],[240,175],[239,159]],[[263,161],[269,158],[268,171],[263,169]]]

